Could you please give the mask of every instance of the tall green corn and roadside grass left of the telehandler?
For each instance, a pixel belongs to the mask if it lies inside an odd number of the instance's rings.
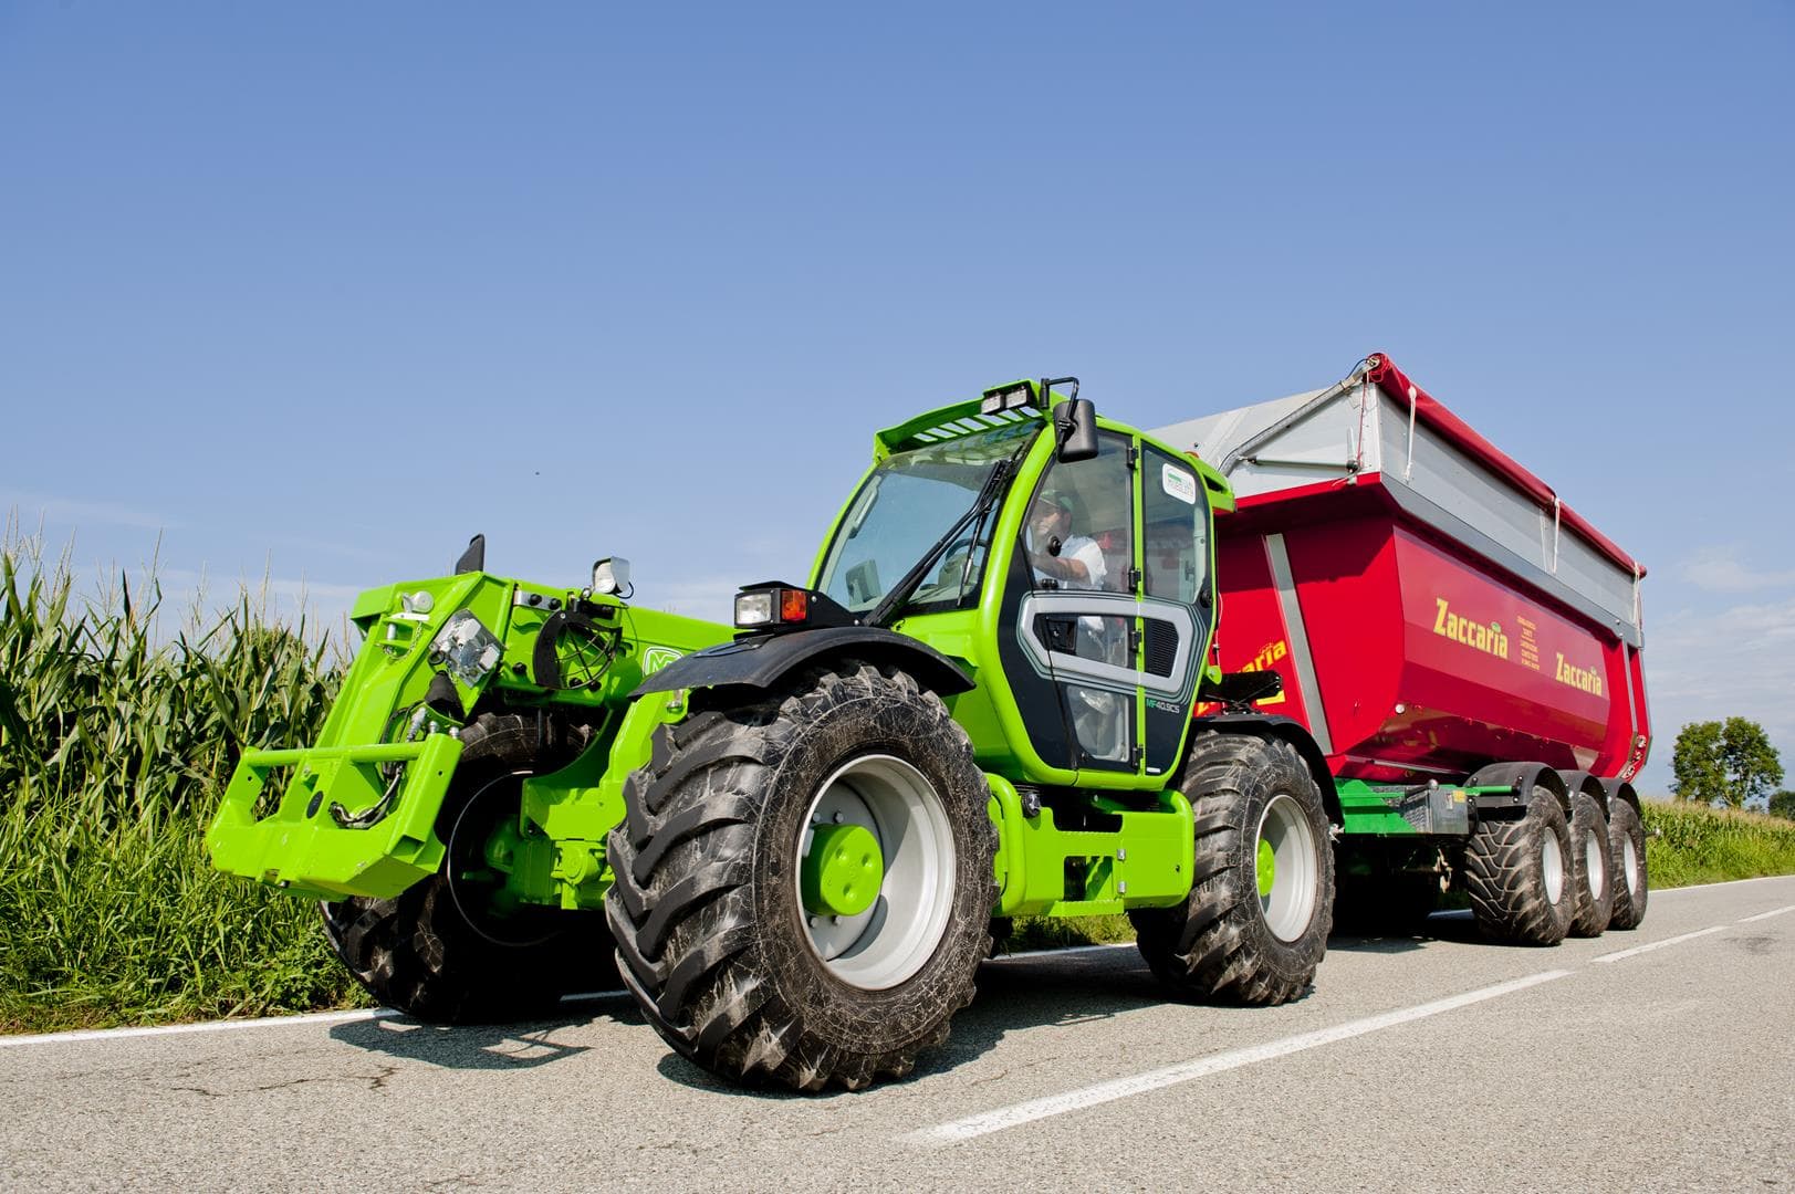
[[[248,594],[158,641],[154,580],[83,598],[16,537],[0,601],[0,1031],[359,1002],[316,910],[201,840],[242,747],[316,733],[330,643]]]

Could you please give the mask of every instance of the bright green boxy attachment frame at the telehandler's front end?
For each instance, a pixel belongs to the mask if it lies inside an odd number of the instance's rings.
[[[206,831],[212,864],[293,896],[391,900],[442,865],[436,813],[460,758],[452,734],[244,751]],[[257,803],[284,768],[285,792],[258,819]]]

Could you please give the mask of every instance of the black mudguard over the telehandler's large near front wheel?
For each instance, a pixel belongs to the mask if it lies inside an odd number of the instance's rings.
[[[827,627],[761,634],[707,646],[675,659],[650,675],[635,689],[635,695],[734,684],[772,688],[781,677],[802,664],[827,663],[845,655],[872,664],[899,666],[914,675],[917,684],[941,697],[953,697],[973,688],[971,677],[959,664],[917,639],[878,627]]]

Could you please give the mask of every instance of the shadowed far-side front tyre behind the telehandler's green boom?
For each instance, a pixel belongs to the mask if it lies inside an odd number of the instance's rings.
[[[506,1023],[553,1014],[562,995],[616,986],[616,959],[596,912],[524,909],[494,916],[477,887],[456,882],[495,817],[515,815],[535,767],[537,725],[486,715],[463,731],[461,761],[436,833],[442,869],[393,900],[321,903],[332,952],[381,1004],[429,1023]]]

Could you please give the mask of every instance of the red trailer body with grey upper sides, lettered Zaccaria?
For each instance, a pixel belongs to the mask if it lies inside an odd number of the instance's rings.
[[[1217,663],[1276,670],[1260,707],[1303,722],[1335,776],[1644,765],[1644,569],[1388,359],[1158,435],[1239,494],[1217,519]]]

